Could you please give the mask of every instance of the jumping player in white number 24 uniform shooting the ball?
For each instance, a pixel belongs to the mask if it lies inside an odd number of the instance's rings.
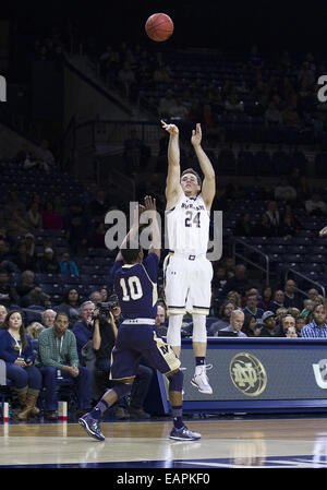
[[[193,351],[195,373],[192,384],[201,393],[211,394],[206,375],[206,316],[211,298],[213,266],[206,259],[209,240],[209,214],[216,193],[213,165],[201,146],[201,124],[192,131],[191,143],[204,174],[192,169],[181,175],[179,129],[161,121],[169,132],[168,175],[166,182],[166,220],[170,253],[165,259],[165,295],[168,314],[167,342],[177,356],[181,354],[181,325],[187,311],[193,320]]]

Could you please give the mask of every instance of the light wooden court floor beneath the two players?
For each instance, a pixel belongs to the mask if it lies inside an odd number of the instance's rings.
[[[106,441],[76,422],[0,425],[0,468],[327,468],[327,418],[187,420],[202,433],[169,440],[171,421],[102,422]]]

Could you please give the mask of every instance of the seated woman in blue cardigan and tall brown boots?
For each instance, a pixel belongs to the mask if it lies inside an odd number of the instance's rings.
[[[25,334],[21,311],[10,311],[0,330],[0,358],[4,360],[7,377],[17,395],[21,410],[14,413],[19,420],[38,415],[36,407],[41,389],[41,375],[34,364],[31,338]]]

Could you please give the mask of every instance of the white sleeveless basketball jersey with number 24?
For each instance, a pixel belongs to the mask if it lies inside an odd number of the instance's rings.
[[[207,253],[210,216],[204,200],[182,195],[177,205],[166,211],[169,250],[190,254]]]

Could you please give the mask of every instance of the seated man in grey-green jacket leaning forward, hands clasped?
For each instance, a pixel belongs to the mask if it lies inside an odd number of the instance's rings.
[[[69,319],[64,313],[58,313],[55,326],[45,328],[38,337],[38,350],[35,364],[39,368],[45,386],[46,418],[56,420],[58,409],[57,374],[71,380],[77,387],[78,413],[90,409],[90,372],[78,361],[76,338],[68,330]],[[58,347],[60,346],[60,347]]]

